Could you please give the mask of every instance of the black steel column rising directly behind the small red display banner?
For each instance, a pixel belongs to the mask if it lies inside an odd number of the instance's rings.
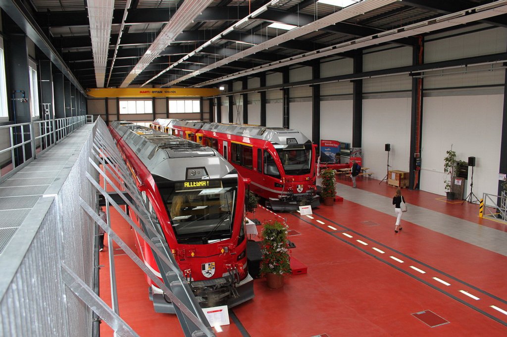
[[[363,52],[354,56],[354,74],[363,72]],[[363,80],[352,82],[352,147],[361,147],[363,139]]]

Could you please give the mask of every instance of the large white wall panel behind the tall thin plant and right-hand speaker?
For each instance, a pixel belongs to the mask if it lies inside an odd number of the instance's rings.
[[[424,98],[421,190],[445,195],[444,157],[452,144],[458,159],[476,157],[474,193],[496,195],[502,106],[503,95]]]

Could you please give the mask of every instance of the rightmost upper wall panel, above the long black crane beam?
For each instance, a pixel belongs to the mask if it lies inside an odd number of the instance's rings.
[[[424,62],[504,53],[507,29],[494,28],[424,43]]]

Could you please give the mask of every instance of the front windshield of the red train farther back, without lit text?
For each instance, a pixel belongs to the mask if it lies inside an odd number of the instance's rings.
[[[312,159],[312,145],[286,145],[277,147],[283,170],[287,175],[301,175],[310,173]]]

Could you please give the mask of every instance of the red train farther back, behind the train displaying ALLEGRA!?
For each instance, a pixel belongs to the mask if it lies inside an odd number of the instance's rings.
[[[319,206],[316,145],[298,130],[156,119],[152,128],[216,149],[274,210]]]

